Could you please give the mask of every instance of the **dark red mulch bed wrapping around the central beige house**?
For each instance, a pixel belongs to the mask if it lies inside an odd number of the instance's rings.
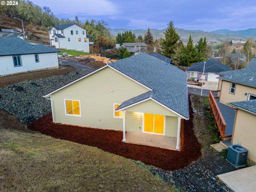
[[[182,121],[181,151],[123,143],[121,142],[123,139],[122,131],[55,124],[52,122],[51,114],[38,119],[28,128],[54,138],[98,147],[109,153],[139,160],[147,165],[154,165],[165,170],[177,170],[186,167],[201,156],[201,145],[193,131],[191,105],[189,105],[189,111],[190,119]]]

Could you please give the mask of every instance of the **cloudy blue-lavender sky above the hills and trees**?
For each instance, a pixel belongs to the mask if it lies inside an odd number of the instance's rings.
[[[175,27],[211,31],[256,28],[255,0],[32,0],[58,18],[103,19],[110,28]]]

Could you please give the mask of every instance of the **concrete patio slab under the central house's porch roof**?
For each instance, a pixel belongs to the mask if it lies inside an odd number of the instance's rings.
[[[125,142],[151,147],[159,147],[163,149],[177,150],[175,149],[177,138],[166,137],[164,135],[140,132],[127,132]]]

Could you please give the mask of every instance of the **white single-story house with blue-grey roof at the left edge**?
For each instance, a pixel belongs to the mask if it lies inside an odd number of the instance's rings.
[[[30,44],[19,37],[0,37],[0,76],[58,68],[57,49]]]

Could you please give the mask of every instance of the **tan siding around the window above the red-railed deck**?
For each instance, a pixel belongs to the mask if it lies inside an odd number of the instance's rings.
[[[230,82],[222,81],[221,94],[220,94],[221,103],[227,104],[228,102],[244,101],[244,100],[247,100],[249,93],[256,94],[255,88],[241,85],[241,84],[236,84],[235,94],[229,93],[229,90],[230,90]]]

